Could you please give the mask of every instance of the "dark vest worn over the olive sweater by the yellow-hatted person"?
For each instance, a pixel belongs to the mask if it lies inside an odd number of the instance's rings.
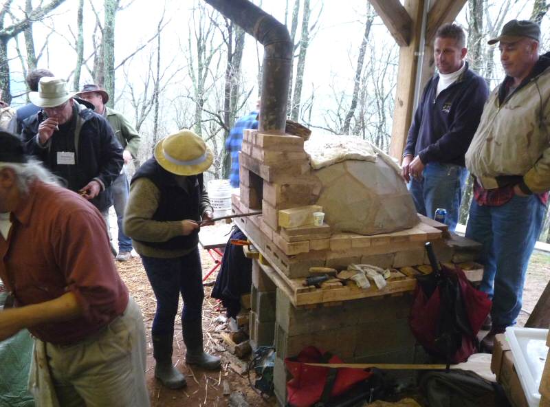
[[[191,219],[200,221],[199,204],[203,190],[202,174],[188,177],[189,193],[175,181],[174,175],[159,166],[154,158],[148,159],[135,172],[131,183],[138,178],[147,178],[160,190],[160,202],[153,214],[155,221],[182,221]],[[162,250],[191,249],[199,243],[198,230],[188,236],[175,236],[165,242],[139,241],[140,243]]]

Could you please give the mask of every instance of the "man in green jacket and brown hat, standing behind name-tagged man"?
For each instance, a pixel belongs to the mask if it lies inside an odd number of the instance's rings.
[[[118,178],[113,182],[111,192],[118,223],[118,254],[116,259],[118,261],[128,261],[131,258],[132,239],[126,236],[122,230],[122,218],[124,217],[124,209],[130,191],[128,177],[126,177],[126,164],[137,157],[141,138],[121,113],[106,106],[109,101],[109,94],[98,85],[84,85],[77,96],[94,104],[96,113],[103,115],[109,121],[115,137],[124,148],[124,167]]]

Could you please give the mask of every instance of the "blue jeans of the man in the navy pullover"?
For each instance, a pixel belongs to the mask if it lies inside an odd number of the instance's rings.
[[[410,179],[408,184],[417,212],[433,219],[437,208],[445,208],[445,223],[454,232],[467,176],[468,171],[463,166],[428,163],[422,171],[422,179]]]

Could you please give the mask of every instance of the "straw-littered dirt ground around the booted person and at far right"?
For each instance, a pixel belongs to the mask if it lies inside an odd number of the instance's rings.
[[[203,261],[203,274],[206,275],[212,267],[212,259],[205,250],[201,250],[201,259]],[[223,329],[222,322],[215,322],[216,318],[223,316],[224,311],[217,300],[210,298],[211,287],[205,287],[205,301],[203,306],[203,328],[205,332],[205,347],[222,358],[221,371],[210,372],[193,368],[184,362],[184,344],[181,338],[181,325],[179,317],[176,320],[175,331],[175,350],[174,361],[178,369],[182,371],[187,378],[187,387],[182,390],[168,390],[160,386],[153,375],[153,347],[151,345],[151,324],[155,314],[155,296],[148,283],[144,268],[139,256],[134,257],[126,263],[117,263],[120,275],[128,285],[133,298],[140,305],[148,332],[148,351],[146,373],[147,386],[151,394],[151,405],[155,406],[227,406],[228,396],[223,395],[223,381],[230,384],[232,392],[240,391],[245,396],[250,406],[276,406],[274,397],[263,399],[248,384],[246,375],[239,375],[232,370],[232,364],[229,360],[227,351],[221,346],[221,337],[219,331]],[[536,252],[531,258],[529,269],[527,271],[527,280],[523,295],[523,308],[520,314],[518,325],[525,325],[533,307],[535,306],[540,294],[546,287],[550,279],[550,254]],[[216,273],[212,274],[208,281],[214,281]],[[181,310],[181,303],[180,303]]]

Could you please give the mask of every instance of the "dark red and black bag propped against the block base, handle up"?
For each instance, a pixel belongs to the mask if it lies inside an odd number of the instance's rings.
[[[432,273],[434,274],[434,273]],[[410,309],[418,342],[446,363],[465,362],[476,351],[476,335],[491,309],[487,294],[472,287],[459,268],[421,276]]]

